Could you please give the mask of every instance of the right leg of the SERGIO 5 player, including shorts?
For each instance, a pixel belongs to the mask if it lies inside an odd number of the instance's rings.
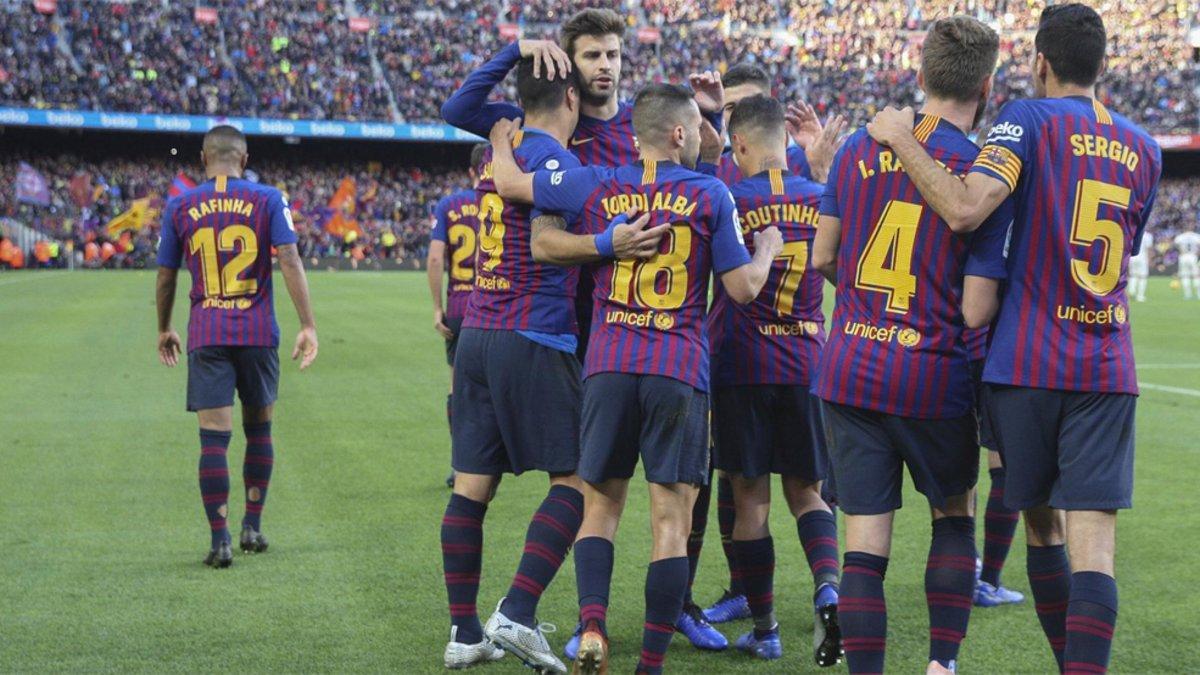
[[[1133,501],[1134,414],[1130,394],[1072,393],[1060,429],[1061,479],[1050,504],[1067,512],[1070,599],[1068,671],[1104,673],[1117,621],[1117,509]]]

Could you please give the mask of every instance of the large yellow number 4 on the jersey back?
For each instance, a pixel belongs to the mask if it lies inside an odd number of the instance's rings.
[[[908,304],[917,294],[912,249],[920,211],[920,204],[888,202],[858,258],[854,286],[887,294],[887,310],[893,313],[908,313]]]

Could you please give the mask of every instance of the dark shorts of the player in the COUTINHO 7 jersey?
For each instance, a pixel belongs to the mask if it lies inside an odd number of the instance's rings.
[[[822,480],[828,455],[821,399],[798,384],[714,389],[713,449],[716,468],[727,473]]]

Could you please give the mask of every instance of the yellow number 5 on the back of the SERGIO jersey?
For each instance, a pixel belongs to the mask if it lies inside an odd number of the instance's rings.
[[[1103,246],[1100,269],[1092,274],[1091,261],[1072,258],[1070,276],[1093,295],[1108,295],[1121,280],[1124,257],[1124,231],[1114,220],[1099,216],[1100,207],[1129,208],[1129,189],[1085,178],[1075,187],[1075,214],[1070,219],[1070,243]]]

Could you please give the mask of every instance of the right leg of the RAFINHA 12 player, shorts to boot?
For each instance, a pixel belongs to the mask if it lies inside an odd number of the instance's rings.
[[[271,414],[280,388],[280,354],[272,347],[233,347],[230,353],[238,371],[238,396],[246,434],[241,470],[246,515],[241,521],[239,545],[246,552],[262,552],[268,546],[262,534],[262,516],[275,466]]]

